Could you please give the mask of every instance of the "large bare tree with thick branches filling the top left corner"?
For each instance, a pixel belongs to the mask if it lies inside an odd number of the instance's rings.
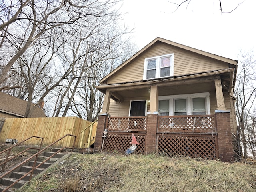
[[[68,33],[74,26],[81,26],[81,20],[115,15],[115,4],[112,0],[1,0],[0,60],[5,62],[0,68],[0,84],[9,77],[18,58],[42,35],[50,35],[48,31],[53,28],[63,28]]]

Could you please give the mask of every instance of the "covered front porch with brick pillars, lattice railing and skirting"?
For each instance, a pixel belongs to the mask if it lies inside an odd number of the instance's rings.
[[[232,161],[234,153],[230,110],[227,110],[224,101],[224,95],[232,91],[232,72],[229,69],[161,80],[98,86],[106,95],[102,113],[99,114],[94,150],[125,152],[134,133],[140,143],[136,153]],[[194,113],[188,104],[190,110],[187,110],[186,115],[175,114],[175,110],[173,114],[159,112],[160,98],[204,93],[208,93],[208,98],[206,96],[205,99],[208,100],[208,103],[205,101],[208,109],[205,112]],[[131,116],[132,101],[140,100],[145,100],[145,114]],[[117,111],[118,107],[126,110]],[[103,130],[108,132],[104,144]]]

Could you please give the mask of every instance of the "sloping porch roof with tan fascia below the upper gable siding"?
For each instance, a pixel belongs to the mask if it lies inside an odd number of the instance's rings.
[[[133,82],[124,82],[118,84],[103,84],[96,86],[98,90],[106,94],[106,90],[111,91],[111,98],[118,101],[122,100],[122,96],[118,94],[118,91],[124,90],[134,90],[134,89],[147,89],[152,85],[157,85],[159,87],[164,86],[173,86],[173,85],[181,85],[181,84],[192,84],[200,82],[211,82],[214,79],[222,78],[224,84],[224,88],[231,93],[232,88],[234,88],[234,68],[216,70],[211,72],[204,72],[198,74],[189,74],[184,76],[173,76],[166,78],[157,78],[150,80],[141,80],[141,81],[133,81]]]

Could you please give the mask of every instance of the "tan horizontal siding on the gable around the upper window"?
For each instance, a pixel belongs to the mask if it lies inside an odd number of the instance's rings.
[[[144,59],[174,53],[174,76],[227,69],[228,64],[175,46],[157,42],[124,68],[108,78],[108,84],[131,82],[143,79]]]

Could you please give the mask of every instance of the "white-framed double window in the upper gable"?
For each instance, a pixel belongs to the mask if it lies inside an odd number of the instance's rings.
[[[174,54],[146,58],[143,79],[173,76]]]

